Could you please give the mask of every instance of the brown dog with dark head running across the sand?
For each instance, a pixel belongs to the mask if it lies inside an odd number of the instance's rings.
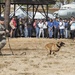
[[[53,52],[53,54],[55,55],[55,52],[59,51],[60,47],[63,46],[65,43],[63,42],[57,42],[56,44],[55,43],[48,43],[45,45],[45,48],[47,50],[50,50],[50,55],[51,53]]]

